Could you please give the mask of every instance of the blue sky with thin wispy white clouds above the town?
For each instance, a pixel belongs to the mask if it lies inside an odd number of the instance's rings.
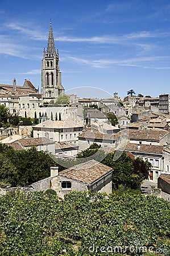
[[[50,19],[65,90],[170,93],[169,0],[0,0],[0,84],[40,87]]]

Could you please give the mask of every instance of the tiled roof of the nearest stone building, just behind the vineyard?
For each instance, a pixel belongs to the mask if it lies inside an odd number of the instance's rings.
[[[99,163],[96,160],[90,160],[59,172],[59,176],[68,177],[69,179],[90,185],[112,170],[111,167],[105,166],[105,164]]]

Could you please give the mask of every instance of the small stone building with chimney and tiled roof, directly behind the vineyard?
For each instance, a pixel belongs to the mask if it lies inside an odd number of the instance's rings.
[[[112,192],[112,172],[111,167],[96,160],[90,160],[59,173],[58,167],[51,167],[50,177],[33,183],[31,186],[36,191],[54,189],[57,196],[61,198],[72,191],[106,192],[109,194]]]

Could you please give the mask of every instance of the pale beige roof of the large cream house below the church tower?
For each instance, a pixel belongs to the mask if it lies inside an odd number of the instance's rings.
[[[47,128],[72,128],[72,127],[83,127],[83,121],[72,121],[72,120],[63,120],[63,121],[51,121],[47,120],[42,123],[39,123],[38,125],[35,125],[34,127],[47,127]]]

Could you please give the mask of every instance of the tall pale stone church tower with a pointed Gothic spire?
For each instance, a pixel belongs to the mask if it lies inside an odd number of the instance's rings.
[[[43,104],[64,94],[65,90],[61,85],[61,72],[59,69],[59,50],[55,48],[52,26],[50,22],[47,51],[43,54],[42,60],[42,97]]]

